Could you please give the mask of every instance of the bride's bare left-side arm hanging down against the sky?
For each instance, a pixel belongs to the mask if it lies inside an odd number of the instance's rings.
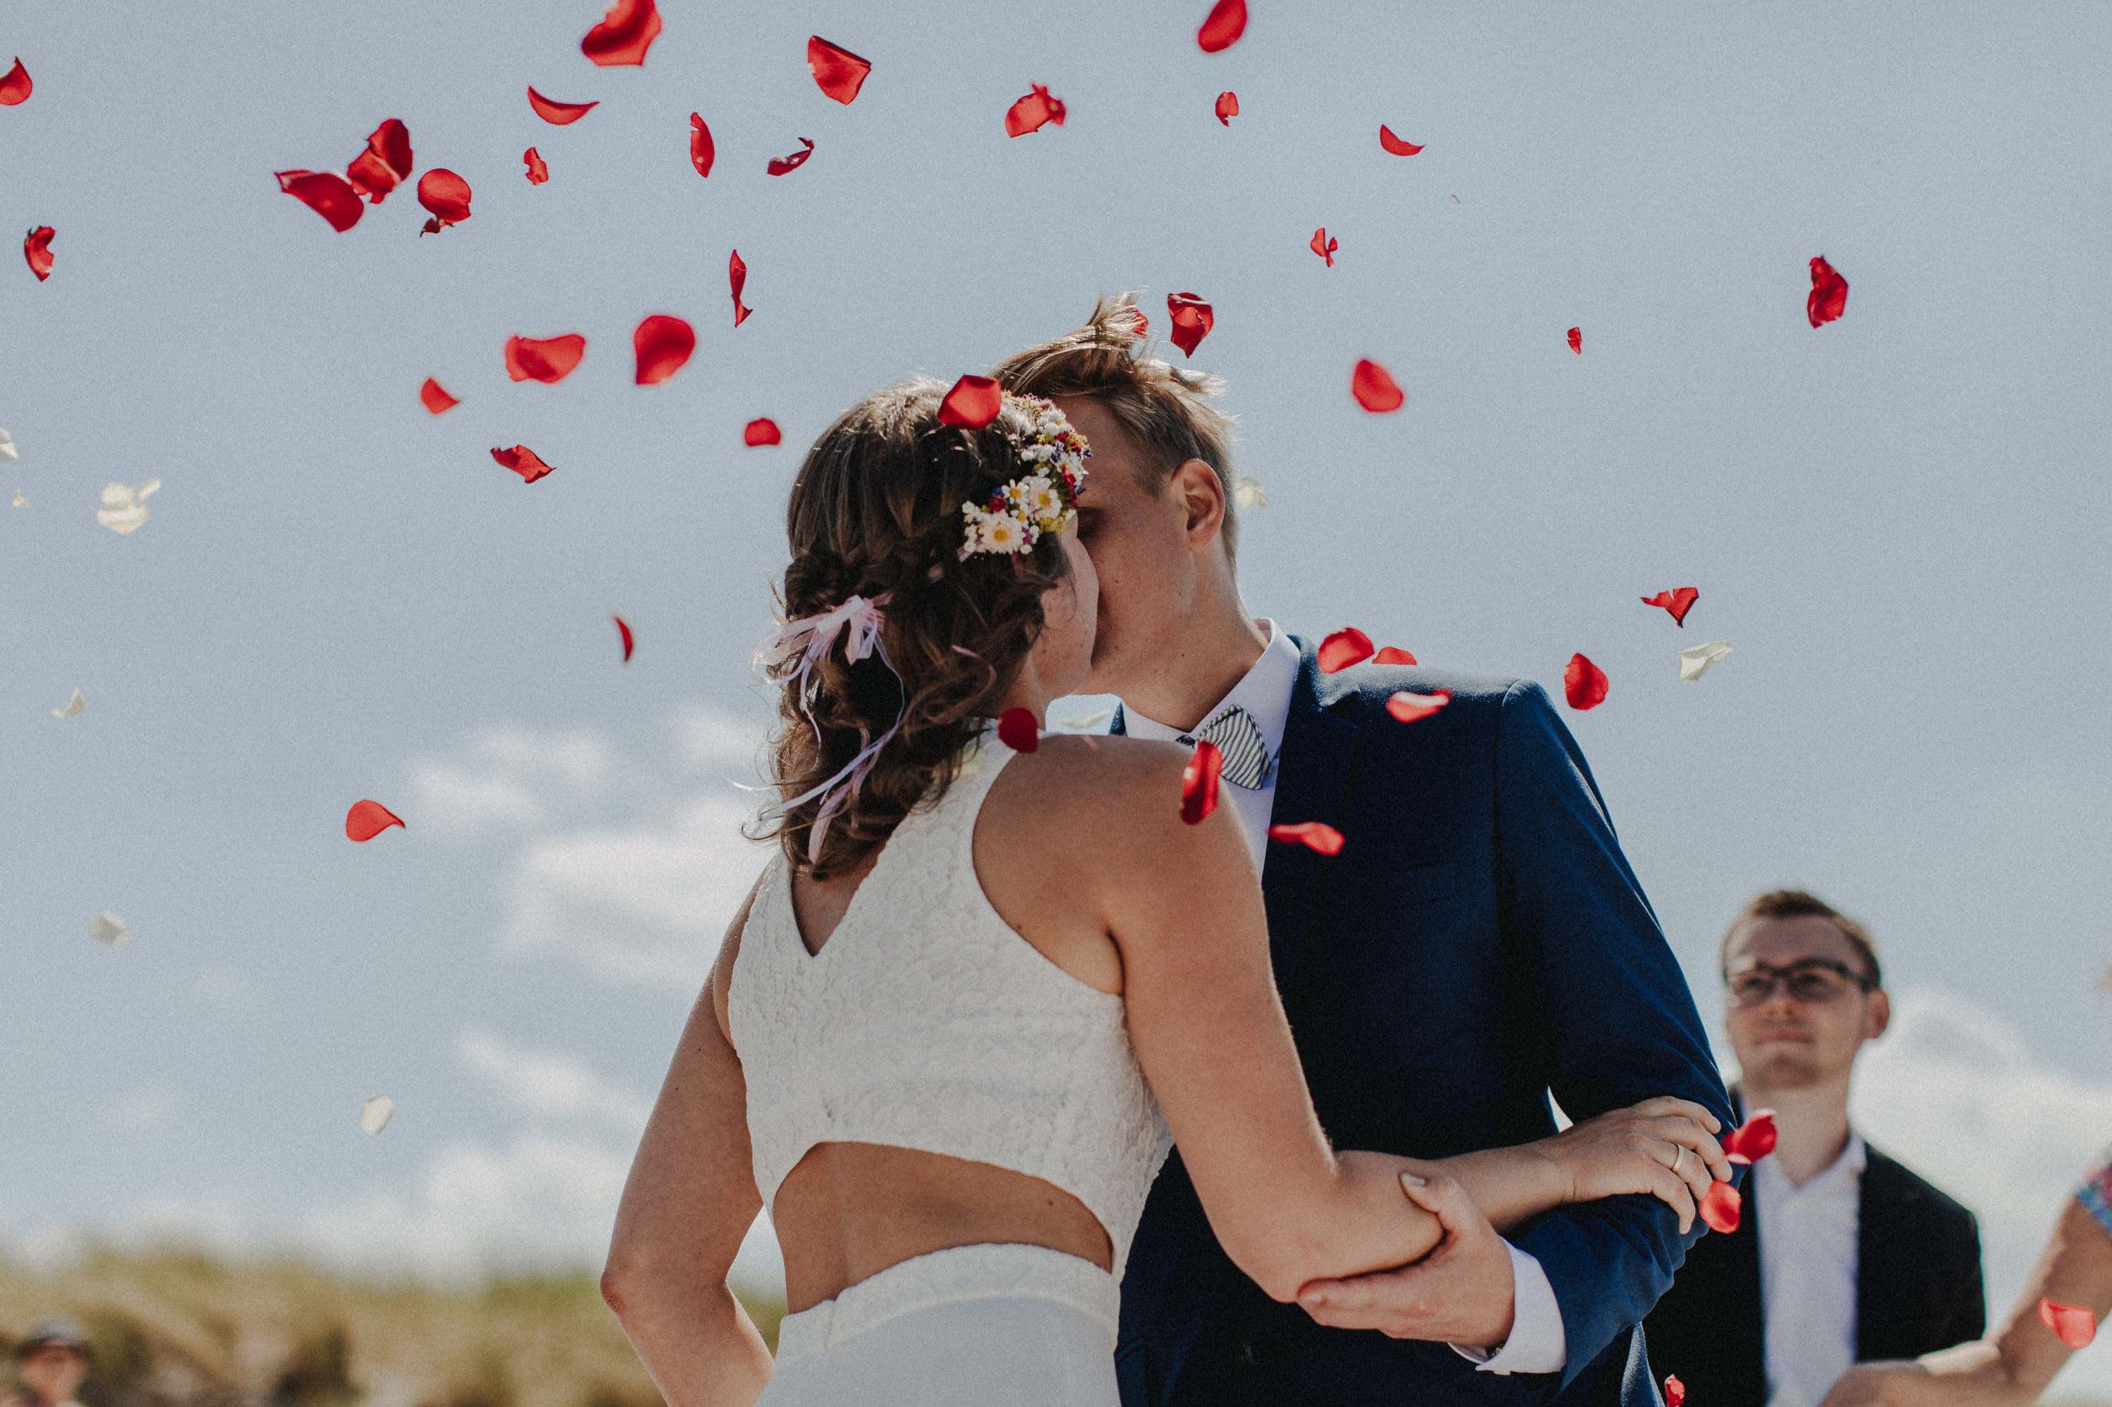
[[[748,1084],[718,998],[754,899],[750,892],[727,930],[712,981],[682,1027],[623,1183],[602,1272],[602,1297],[667,1407],[748,1407],[771,1375],[762,1335],[727,1289],[762,1209],[748,1148]]]

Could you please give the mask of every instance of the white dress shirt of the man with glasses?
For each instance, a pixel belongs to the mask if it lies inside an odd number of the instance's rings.
[[[1753,1164],[1759,1211],[1759,1308],[1768,1407],[1818,1407],[1854,1363],[1856,1234],[1863,1226],[1863,1135],[1795,1186],[1774,1158]]]

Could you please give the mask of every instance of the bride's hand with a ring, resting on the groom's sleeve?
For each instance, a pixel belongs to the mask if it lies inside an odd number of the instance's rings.
[[[1662,1095],[1609,1110],[1533,1143],[1567,1179],[1565,1202],[1595,1202],[1647,1192],[1694,1226],[1694,1207],[1711,1181],[1730,1181],[1730,1158],[1715,1135],[1723,1124],[1698,1103]]]

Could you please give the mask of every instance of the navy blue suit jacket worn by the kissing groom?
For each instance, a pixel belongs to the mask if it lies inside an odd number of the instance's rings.
[[[1299,645],[1274,821],[1324,821],[1345,844],[1274,846],[1263,894],[1335,1145],[1445,1158],[1527,1143],[1554,1133],[1550,1091],[1573,1118],[1681,1095],[1728,1120],[1687,983],[1540,686],[1383,664],[1322,675]],[[1396,690],[1440,688],[1453,700],[1432,717],[1385,713]],[[1269,1299],[1219,1249],[1174,1154],[1121,1285],[1121,1401],[1544,1403],[1605,1365],[1620,1375],[1694,1234],[1647,1196],[1512,1230],[1548,1272],[1569,1363],[1476,1373],[1445,1344],[1324,1329]]]

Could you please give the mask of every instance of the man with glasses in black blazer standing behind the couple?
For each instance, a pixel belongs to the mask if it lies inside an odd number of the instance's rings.
[[[1656,1371],[1696,1407],[1818,1407],[1850,1363],[1979,1337],[1973,1213],[1848,1124],[1854,1057],[1892,1017],[1869,934],[1776,890],[1723,934],[1721,968],[1732,1097],[1740,1118],[1774,1110],[1778,1141],[1738,1230],[1702,1236],[1645,1321]]]

